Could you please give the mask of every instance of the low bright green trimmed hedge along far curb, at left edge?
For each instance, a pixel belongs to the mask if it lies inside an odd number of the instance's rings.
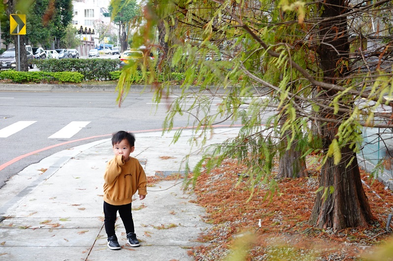
[[[15,83],[81,83],[83,78],[79,72],[0,71],[0,79]]]

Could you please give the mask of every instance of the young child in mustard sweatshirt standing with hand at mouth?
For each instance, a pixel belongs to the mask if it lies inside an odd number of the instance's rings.
[[[135,136],[126,131],[119,131],[112,136],[114,157],[107,164],[104,174],[104,225],[108,235],[108,247],[120,249],[114,232],[117,211],[123,221],[127,244],[139,246],[135,235],[134,221],[131,214],[132,196],[137,192],[139,199],[145,198],[146,175],[137,159],[130,156],[134,152]]]

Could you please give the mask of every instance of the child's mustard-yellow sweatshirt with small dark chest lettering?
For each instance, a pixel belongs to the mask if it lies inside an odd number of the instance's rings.
[[[132,195],[146,195],[146,174],[136,158],[130,156],[125,163],[122,155],[116,155],[107,164],[104,174],[104,201],[111,205],[131,203]]]

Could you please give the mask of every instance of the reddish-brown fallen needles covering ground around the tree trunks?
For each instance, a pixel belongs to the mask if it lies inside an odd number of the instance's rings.
[[[309,166],[309,178],[277,180],[279,191],[271,200],[270,195],[265,200],[268,186],[257,184],[249,202],[250,183],[246,178],[238,182],[237,173],[244,167],[237,162],[226,160],[209,174],[199,176],[196,202],[206,209],[203,218],[213,227],[198,239],[209,245],[194,247],[189,254],[197,261],[220,260],[231,253],[234,236],[249,231],[255,237],[248,242],[244,260],[355,260],[390,236],[384,228],[393,210],[393,193],[364,172],[364,189],[375,216],[370,227],[333,231],[308,225],[318,188],[315,168]]]

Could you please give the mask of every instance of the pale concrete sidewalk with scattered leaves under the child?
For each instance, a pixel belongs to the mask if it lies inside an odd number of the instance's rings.
[[[216,129],[211,143],[237,134],[238,128]],[[136,134],[131,155],[140,160],[147,176],[178,171],[190,152],[187,142],[192,130],[185,130],[170,144],[174,132]],[[200,244],[198,234],[209,228],[204,209],[183,193],[181,181],[163,181],[148,187],[142,201],[134,196],[133,216],[141,246],[125,246],[120,219],[116,222],[119,251],[107,248],[103,218],[103,174],[112,158],[110,139],[58,152],[28,166],[0,190],[0,259],[25,260],[126,260],[191,261],[188,248]],[[200,159],[190,157],[190,166]],[[160,158],[161,157],[161,158]],[[42,173],[41,169],[47,170]],[[184,169],[184,166],[181,168]],[[144,208],[139,208],[143,204]],[[5,218],[5,219],[4,219]],[[172,228],[158,229],[164,225]]]

